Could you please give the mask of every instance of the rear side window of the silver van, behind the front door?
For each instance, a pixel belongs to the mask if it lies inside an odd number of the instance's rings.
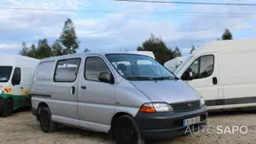
[[[54,73],[55,82],[74,82],[81,58],[59,60]]]

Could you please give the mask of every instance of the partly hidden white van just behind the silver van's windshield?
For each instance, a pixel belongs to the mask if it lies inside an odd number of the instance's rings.
[[[171,59],[167,61],[164,66],[170,71],[175,72],[175,70],[178,68],[180,64],[186,59],[187,57],[175,57],[174,59]]]

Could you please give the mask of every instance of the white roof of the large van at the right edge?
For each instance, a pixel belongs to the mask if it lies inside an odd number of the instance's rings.
[[[256,49],[256,38],[229,40],[229,41],[214,41],[206,42],[206,44],[196,49],[193,54],[208,52],[224,52],[224,51],[236,51],[236,50],[250,50]]]

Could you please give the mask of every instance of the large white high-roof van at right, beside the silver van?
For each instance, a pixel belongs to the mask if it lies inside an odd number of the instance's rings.
[[[176,70],[209,110],[256,106],[256,39],[208,42]]]

